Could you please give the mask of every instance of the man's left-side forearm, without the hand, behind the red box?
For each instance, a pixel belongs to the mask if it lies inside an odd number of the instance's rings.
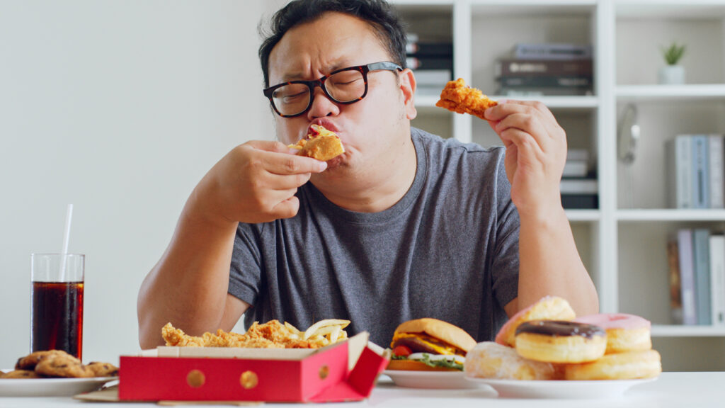
[[[204,219],[190,207],[138,293],[141,348],[162,343],[167,322],[196,335],[216,330],[222,319],[236,223]]]

